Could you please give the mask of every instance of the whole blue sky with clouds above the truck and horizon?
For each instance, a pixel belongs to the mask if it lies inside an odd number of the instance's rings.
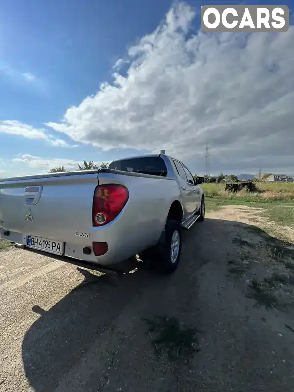
[[[179,8],[179,4],[183,7]],[[176,4],[169,0],[2,1],[0,175],[46,172],[55,164],[73,169],[75,162],[83,159],[110,161],[161,148],[183,159],[193,172],[203,172],[206,141],[211,148],[212,172],[254,173],[260,166],[265,171],[294,172],[293,154],[289,152],[289,159],[287,155],[289,147],[286,151],[281,146],[284,153],[274,155],[276,164],[272,163],[274,138],[278,131],[287,134],[288,123],[279,129],[269,129],[267,134],[267,123],[256,121],[263,118],[262,113],[269,111],[270,105],[276,104],[272,110],[275,119],[281,107],[282,112],[288,110],[293,92],[293,78],[289,80],[289,75],[293,68],[285,69],[283,64],[293,60],[290,54],[293,30],[284,33],[289,38],[279,38],[279,45],[266,40],[261,42],[258,37],[249,38],[250,44],[245,48],[249,55],[254,57],[256,49],[265,53],[264,57],[259,54],[258,60],[252,58],[256,63],[253,69],[251,64],[245,64],[240,45],[236,46],[236,37],[212,47],[205,37],[198,36],[197,12],[204,4],[193,0]],[[193,12],[196,14],[192,15]],[[178,33],[176,24],[184,32]],[[159,30],[155,37],[156,29]],[[147,44],[144,43],[146,36]],[[244,36],[239,38],[245,39]],[[191,42],[195,45],[196,40],[201,51],[191,49]],[[146,49],[145,45],[169,49]],[[189,58],[195,53],[199,55],[188,65],[195,67],[193,73],[184,64],[185,45],[191,50]],[[121,66],[114,67],[119,59],[117,64]],[[228,95],[227,102],[231,106],[223,107],[218,113],[212,111],[210,115],[210,108],[219,110],[222,104],[217,100],[210,104],[207,99],[213,100],[227,89],[221,85],[218,91],[209,91],[209,80],[216,86],[218,83],[214,80],[220,73],[219,77],[224,77],[227,86],[230,70],[225,64],[227,61],[232,66],[233,60],[240,68],[239,76],[243,65],[250,68],[243,76],[256,89],[254,75],[257,77],[261,72],[261,64],[279,62],[279,70],[284,73],[277,72],[272,85],[282,82],[285,87],[276,96],[270,93],[270,99],[261,97],[261,93],[254,93],[249,99],[248,92],[242,94],[240,90],[237,98]],[[181,72],[185,73],[183,80]],[[164,79],[167,74],[168,80]],[[239,76],[234,75],[234,85]],[[206,85],[200,83],[201,79],[206,80]],[[265,97],[269,97],[269,80],[265,78],[262,87]],[[101,83],[105,82],[109,84],[101,91]],[[192,93],[188,91],[191,85]],[[243,87],[246,88],[246,83]],[[243,101],[242,95],[247,100]],[[253,107],[249,101],[254,98]],[[236,99],[246,111],[236,107]],[[260,113],[253,113],[256,107]],[[205,118],[203,112],[207,113]],[[244,127],[245,117],[251,112],[251,122],[258,127],[255,136],[248,135]],[[281,121],[285,117],[287,122],[293,120],[291,113],[281,116]],[[224,123],[220,124],[220,119]],[[218,123],[219,128],[213,129],[213,122]],[[232,130],[233,125],[236,131]],[[258,135],[259,129],[261,135]],[[261,142],[265,138],[267,143]],[[285,136],[285,141],[287,138]],[[240,143],[247,146],[242,159],[239,159]],[[255,155],[252,156],[253,150]]]

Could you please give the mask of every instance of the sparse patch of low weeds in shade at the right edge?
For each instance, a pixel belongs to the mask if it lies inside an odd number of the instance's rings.
[[[238,256],[228,261],[228,272],[238,277],[249,277],[250,292],[247,296],[259,305],[286,310],[289,301],[291,304],[294,300],[294,250],[289,247],[291,244],[258,228],[250,227],[246,232],[246,239],[240,236],[232,238]],[[253,273],[256,276],[252,278]]]

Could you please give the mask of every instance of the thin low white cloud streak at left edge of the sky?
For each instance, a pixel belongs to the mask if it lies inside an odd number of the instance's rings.
[[[77,147],[69,145],[66,141],[46,133],[43,128],[34,128],[31,125],[20,123],[17,120],[0,121],[0,133],[23,136],[28,139],[43,139],[56,147]]]

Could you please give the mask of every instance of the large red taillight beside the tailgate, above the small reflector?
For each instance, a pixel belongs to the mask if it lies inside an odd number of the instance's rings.
[[[93,198],[93,226],[111,222],[122,211],[128,198],[128,190],[123,185],[98,185]]]

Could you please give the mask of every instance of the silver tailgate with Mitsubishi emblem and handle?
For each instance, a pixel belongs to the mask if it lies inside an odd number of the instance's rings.
[[[75,233],[92,230],[97,185],[97,170],[0,180],[2,237],[5,229],[11,235],[15,232],[87,244],[87,238]]]

